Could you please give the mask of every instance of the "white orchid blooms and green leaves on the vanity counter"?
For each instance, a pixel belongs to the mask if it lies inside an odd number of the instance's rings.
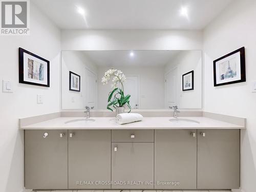
[[[126,105],[130,109],[130,111],[128,112],[130,113],[131,106],[130,106],[129,99],[131,95],[124,96],[123,82],[126,80],[125,75],[120,70],[110,69],[105,72],[101,82],[103,83],[103,85],[108,84],[111,78],[113,83],[111,84],[111,88],[114,88],[114,89],[109,93],[108,105],[106,106],[106,109],[113,111],[112,108]],[[120,87],[119,85],[121,85],[121,88],[119,88]]]

